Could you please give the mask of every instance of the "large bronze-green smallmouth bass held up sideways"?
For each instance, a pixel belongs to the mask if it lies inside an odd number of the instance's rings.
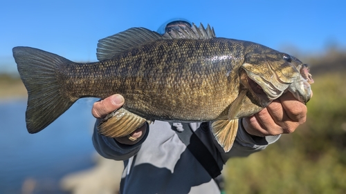
[[[98,61],[77,63],[51,52],[12,49],[26,90],[26,128],[37,133],[83,97],[113,94],[125,104],[98,124],[98,133],[124,137],[155,120],[210,122],[230,151],[239,119],[292,93],[304,104],[313,79],[307,64],[259,43],[216,37],[214,28],[172,29],[164,35],[129,28],[98,41]]]

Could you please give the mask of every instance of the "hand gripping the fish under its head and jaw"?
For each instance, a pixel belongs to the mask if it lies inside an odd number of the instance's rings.
[[[284,93],[259,113],[242,119],[242,124],[250,135],[264,137],[293,133],[306,119],[307,106],[291,93]]]

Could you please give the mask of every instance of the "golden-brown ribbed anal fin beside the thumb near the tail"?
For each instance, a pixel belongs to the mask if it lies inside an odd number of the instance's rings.
[[[119,108],[113,111],[98,125],[98,133],[107,137],[125,137],[130,135],[134,130],[143,126],[146,119],[125,108]]]

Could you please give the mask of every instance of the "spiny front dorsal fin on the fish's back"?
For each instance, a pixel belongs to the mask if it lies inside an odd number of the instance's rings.
[[[165,32],[163,35],[166,39],[213,39],[215,38],[214,28],[210,28],[209,24],[207,28],[204,28],[201,23],[199,28],[192,23],[192,27],[189,28],[185,26],[185,28],[178,28],[172,30],[170,32]]]

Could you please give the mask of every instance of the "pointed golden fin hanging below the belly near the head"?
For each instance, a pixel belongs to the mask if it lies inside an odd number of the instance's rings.
[[[214,133],[217,143],[224,148],[225,153],[230,151],[230,148],[235,142],[237,136],[239,119],[219,120],[212,123],[212,133]]]

